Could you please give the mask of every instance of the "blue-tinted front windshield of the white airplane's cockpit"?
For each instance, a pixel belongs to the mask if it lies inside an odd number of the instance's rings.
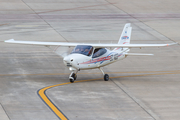
[[[71,52],[71,54],[73,53],[78,53],[78,54],[83,54],[86,56],[91,56],[93,51],[93,47],[92,46],[87,46],[87,45],[77,45],[73,51]]]

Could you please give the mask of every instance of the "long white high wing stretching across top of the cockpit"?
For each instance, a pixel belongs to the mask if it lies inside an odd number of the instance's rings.
[[[75,47],[77,45],[91,45],[93,47],[125,47],[125,48],[141,48],[141,47],[163,47],[174,45],[177,43],[170,44],[92,44],[92,43],[71,43],[71,42],[37,42],[37,41],[15,41],[14,39],[4,41],[6,43],[17,43],[17,44],[30,44],[30,45],[44,45],[44,46],[66,46]]]

